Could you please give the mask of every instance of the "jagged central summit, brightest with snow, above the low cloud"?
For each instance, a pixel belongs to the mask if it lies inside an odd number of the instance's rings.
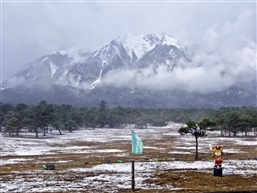
[[[121,71],[134,74],[142,69],[156,71],[160,65],[172,69],[178,59],[187,58],[185,50],[176,39],[164,34],[123,34],[94,52],[77,71],[82,72],[92,89],[103,83],[112,84],[112,80],[106,79]]]

